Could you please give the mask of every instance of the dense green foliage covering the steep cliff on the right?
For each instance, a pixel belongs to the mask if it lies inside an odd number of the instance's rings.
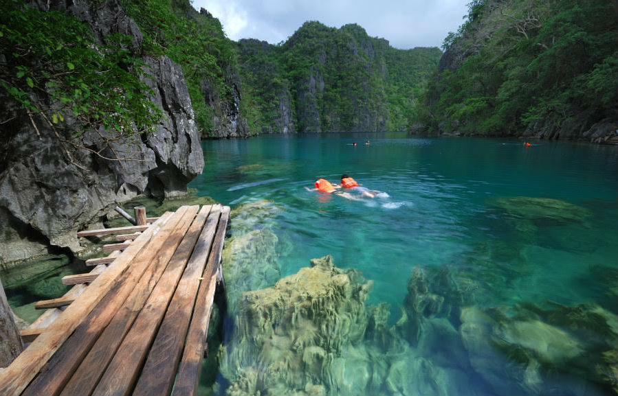
[[[430,129],[557,138],[618,119],[614,2],[474,0],[469,7],[428,87],[421,117]]]

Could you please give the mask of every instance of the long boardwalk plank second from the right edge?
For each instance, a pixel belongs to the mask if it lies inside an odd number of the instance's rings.
[[[199,279],[210,253],[221,206],[212,209],[159,327],[133,396],[169,395],[182,353]]]

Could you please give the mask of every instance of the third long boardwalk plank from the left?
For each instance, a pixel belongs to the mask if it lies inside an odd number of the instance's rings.
[[[183,259],[183,257],[179,259],[179,256],[182,255],[181,252],[190,251],[193,248],[197,235],[195,237],[192,235],[195,234],[196,228],[201,229],[210,207],[203,207],[202,211],[195,217],[197,209],[197,207],[190,208],[183,220],[164,242],[164,246],[157,253],[153,264],[144,272],[131,296],[126,299],[109,325],[102,331],[87,356],[64,386],[61,395],[89,395],[91,393],[101,375],[103,375],[104,368],[107,367],[121,345],[124,336],[134,325],[135,317],[144,307],[146,300],[151,301],[151,296],[160,288],[169,287],[167,279],[173,275],[173,272],[181,272],[184,268],[186,259]],[[177,269],[178,267],[179,269]],[[172,291],[174,286],[175,283],[171,285]],[[148,304],[150,303],[148,302]],[[143,309],[147,309],[147,307],[148,305]],[[102,369],[93,370],[93,367]]]

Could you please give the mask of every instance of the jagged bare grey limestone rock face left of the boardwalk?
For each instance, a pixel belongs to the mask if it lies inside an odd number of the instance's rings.
[[[133,47],[141,43],[140,31],[118,1],[96,6],[52,1],[42,8],[74,14],[89,23],[96,37],[123,33],[131,36]],[[0,111],[11,119],[3,125],[10,132],[0,137],[0,262],[45,253],[49,246],[78,251],[76,231],[98,222],[115,202],[144,192],[177,196],[201,173],[203,153],[181,69],[166,57],[145,62],[152,100],[164,118],[152,135],[111,143],[115,154],[109,148],[102,152],[132,159],[109,161],[85,150],[67,156],[42,119],[34,119],[37,136],[21,108],[0,97]]]

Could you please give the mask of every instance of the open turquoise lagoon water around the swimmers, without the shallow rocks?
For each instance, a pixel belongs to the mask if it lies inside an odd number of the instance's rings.
[[[366,139],[371,139],[371,145],[363,144]],[[353,142],[359,144],[353,146]],[[410,273],[415,267],[449,268],[456,276],[464,274],[474,281],[470,294],[478,310],[513,310],[528,303],[547,308],[548,301],[568,307],[588,303],[590,307],[602,307],[608,323],[615,320],[616,147],[540,141],[525,148],[518,140],[418,139],[397,133],[274,135],[203,141],[202,147],[204,172],[190,184],[198,194],[211,196],[232,209],[260,200],[280,208],[264,219],[276,235],[278,277],[296,274],[313,257],[330,254],[336,266],[359,270],[373,281],[365,303],[388,303],[389,326],[401,318]],[[313,187],[316,178],[338,183],[343,173],[365,187],[386,191],[389,198],[347,200],[304,188]],[[549,202],[549,209],[542,207],[544,202]],[[234,236],[234,220],[231,230]],[[270,283],[261,286],[272,286],[273,281]],[[228,284],[232,292],[235,287]],[[462,307],[456,309],[459,312]],[[546,321],[546,316],[526,312],[529,316],[520,322],[512,322],[517,316],[513,314],[508,321],[496,323],[501,323],[503,327],[498,327],[507,334],[512,330],[509,326],[516,327],[514,323]],[[453,317],[449,326],[463,334],[463,316],[461,320],[459,315]],[[494,355],[500,359],[494,363],[520,364],[521,373],[527,373],[522,374],[525,379],[514,380],[513,372],[494,373],[472,351],[473,342],[461,336],[470,362],[466,360],[457,369],[467,378],[464,387],[458,385],[457,389],[470,394],[611,393],[611,380],[561,368],[560,364],[573,364],[572,356],[558,353],[549,358],[542,352],[560,349],[560,342],[569,345],[571,338],[587,350],[588,340],[602,338],[581,333],[566,337],[562,331],[574,331],[567,322],[554,321],[551,328],[539,325],[531,331],[521,330],[518,341],[513,331],[503,337],[509,346],[516,345],[514,348],[527,353],[525,356],[540,362],[541,380],[530,375],[537,373],[531,369],[534,364],[526,359],[518,361],[508,351]],[[559,340],[541,347],[531,347],[527,340],[536,342],[543,337]],[[607,345],[618,343],[613,333],[606,338]],[[494,353],[490,344],[488,339],[487,350]],[[414,346],[410,347],[410,351],[414,350]],[[432,360],[432,353],[423,356],[436,370],[443,369],[444,364],[437,358]],[[591,353],[600,355],[604,349]],[[580,362],[589,359],[585,356],[579,355]],[[457,375],[444,370],[443,381],[459,381]],[[410,381],[418,380],[415,375],[419,372],[410,369]],[[505,387],[496,385],[501,381]],[[509,385],[511,382],[514,384]],[[385,394],[415,393],[409,387],[397,391],[394,386],[385,383],[373,389]],[[441,389],[452,388],[432,389],[440,393]],[[329,394],[345,393],[344,388],[326,386],[325,390]]]

